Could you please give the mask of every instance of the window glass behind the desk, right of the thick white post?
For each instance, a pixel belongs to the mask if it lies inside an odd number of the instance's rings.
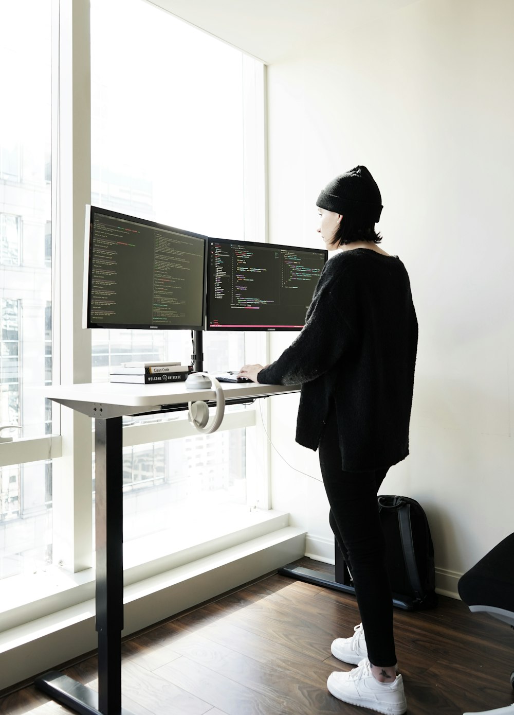
[[[141,0],[91,0],[91,203],[243,237],[248,64],[255,72],[240,51]],[[208,334],[203,347],[206,370],[244,363],[243,333]],[[97,329],[92,350],[93,379],[106,380],[126,360],[191,362],[191,335]],[[125,541],[178,518],[219,521],[221,508],[245,505],[245,436],[126,449]]]

